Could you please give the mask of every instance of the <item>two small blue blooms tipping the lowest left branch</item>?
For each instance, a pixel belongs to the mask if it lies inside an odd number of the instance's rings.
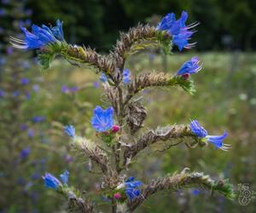
[[[69,176],[69,172],[67,170],[65,170],[60,175],[60,178],[61,178],[61,181],[62,181],[63,184],[67,184],[68,176]],[[58,187],[62,186],[61,181],[58,178],[56,178],[55,176],[48,173],[48,172],[45,173],[45,175],[43,176],[43,180],[44,180],[44,186],[45,187],[57,189]]]

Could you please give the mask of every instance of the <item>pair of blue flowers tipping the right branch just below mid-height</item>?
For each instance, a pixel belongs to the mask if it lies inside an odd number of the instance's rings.
[[[220,148],[224,151],[228,151],[230,148],[229,144],[224,144],[223,141],[227,137],[227,132],[223,135],[208,135],[207,130],[205,130],[197,120],[192,120],[190,123],[191,131],[202,141],[208,141],[212,143],[215,147]]]

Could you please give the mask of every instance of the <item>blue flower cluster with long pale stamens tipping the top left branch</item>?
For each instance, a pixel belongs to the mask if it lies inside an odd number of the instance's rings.
[[[25,40],[11,37],[11,44],[17,49],[40,49],[41,47],[55,43],[57,40],[64,41],[62,31],[62,21],[57,20],[56,26],[49,28],[48,26],[32,25],[32,32],[28,32],[26,27],[20,27],[25,34]]]

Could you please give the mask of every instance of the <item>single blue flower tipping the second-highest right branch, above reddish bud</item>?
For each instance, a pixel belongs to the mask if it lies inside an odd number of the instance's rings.
[[[199,72],[201,70],[201,65],[199,65],[200,60],[198,57],[192,57],[191,60],[186,61],[183,63],[183,66],[180,67],[177,75],[184,75],[184,74],[193,74]]]

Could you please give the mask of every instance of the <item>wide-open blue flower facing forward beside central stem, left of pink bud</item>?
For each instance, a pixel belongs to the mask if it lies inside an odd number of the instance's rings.
[[[113,127],[113,107],[104,110],[97,106],[93,113],[91,124],[96,131],[105,132]]]

